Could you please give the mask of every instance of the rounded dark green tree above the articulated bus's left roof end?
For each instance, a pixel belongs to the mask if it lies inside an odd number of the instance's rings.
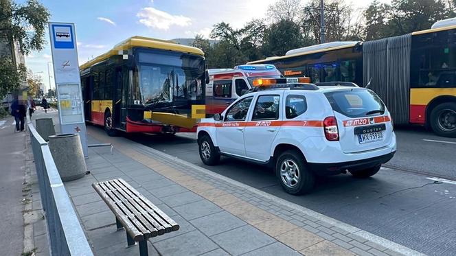
[[[282,56],[286,51],[310,45],[301,34],[301,28],[293,21],[273,23],[264,32],[263,52],[265,56]]]

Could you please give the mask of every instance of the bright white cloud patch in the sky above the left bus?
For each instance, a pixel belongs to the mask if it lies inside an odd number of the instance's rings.
[[[172,25],[187,27],[192,24],[192,19],[186,16],[172,15],[152,7],[143,8],[136,16],[140,18],[139,23],[159,30],[168,30]]]

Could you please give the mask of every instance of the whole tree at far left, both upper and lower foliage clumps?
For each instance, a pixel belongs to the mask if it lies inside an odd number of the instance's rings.
[[[19,45],[19,51],[24,55],[43,49],[48,19],[49,12],[36,0],[23,5],[0,0],[0,45],[10,49]],[[5,52],[0,56],[0,98],[18,89],[26,75],[25,66],[14,62],[14,53]]]

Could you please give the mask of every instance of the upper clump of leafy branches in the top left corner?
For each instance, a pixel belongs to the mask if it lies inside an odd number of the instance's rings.
[[[19,43],[22,54],[43,49],[48,20],[48,10],[36,0],[28,0],[24,5],[0,0],[0,33],[10,43]]]

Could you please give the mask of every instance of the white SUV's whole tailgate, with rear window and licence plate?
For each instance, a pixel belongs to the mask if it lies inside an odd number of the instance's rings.
[[[337,119],[343,152],[375,150],[391,143],[393,127],[388,110],[373,91],[351,88],[325,95]]]

